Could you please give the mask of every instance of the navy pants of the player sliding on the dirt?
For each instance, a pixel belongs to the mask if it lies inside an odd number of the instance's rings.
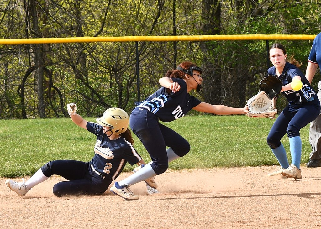
[[[65,195],[100,195],[103,194],[111,179],[102,179],[91,169],[90,162],[74,160],[49,161],[41,167],[41,171],[47,177],[53,174],[60,175],[68,181],[56,183],[53,193],[57,197]]]

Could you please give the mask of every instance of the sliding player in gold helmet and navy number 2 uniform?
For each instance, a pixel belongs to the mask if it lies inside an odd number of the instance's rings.
[[[57,197],[65,195],[100,195],[124,169],[126,162],[131,165],[145,162],[133,147],[131,132],[127,129],[128,114],[120,108],[107,109],[97,123],[88,122],[76,114],[76,104],[68,104],[67,109],[71,120],[97,137],[94,146],[94,157],[90,162],[75,160],[55,160],[43,165],[27,182],[6,180],[6,184],[19,196],[35,185],[44,182],[51,175],[57,174],[68,181],[54,185],[53,193]],[[154,179],[145,181],[149,194],[158,192]],[[152,187],[151,187],[152,186]]]

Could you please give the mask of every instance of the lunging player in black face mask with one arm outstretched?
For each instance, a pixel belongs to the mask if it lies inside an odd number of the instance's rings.
[[[183,157],[190,150],[190,145],[177,132],[162,122],[171,122],[183,117],[191,109],[216,115],[247,114],[247,106],[233,108],[223,105],[211,105],[201,102],[188,93],[199,91],[203,78],[202,69],[191,62],[179,64],[177,69],[170,70],[159,80],[162,86],[144,101],[136,103],[130,115],[130,127],[142,141],[152,161],[135,174],[115,182],[110,188],[115,194],[128,200],[135,200],[136,195],[126,196],[129,186],[164,173],[170,161]],[[169,147],[166,150],[166,147]]]

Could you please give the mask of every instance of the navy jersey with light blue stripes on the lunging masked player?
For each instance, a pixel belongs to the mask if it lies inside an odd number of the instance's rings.
[[[193,107],[201,103],[200,100],[187,93],[187,85],[184,80],[171,79],[180,85],[179,91],[168,94],[166,88],[161,87],[144,101],[135,103],[138,107],[154,113],[161,121],[166,123],[183,117]]]

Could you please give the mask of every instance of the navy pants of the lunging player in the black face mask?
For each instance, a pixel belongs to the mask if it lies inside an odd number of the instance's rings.
[[[172,148],[179,157],[183,157],[190,150],[187,140],[159,123],[158,117],[146,109],[136,107],[130,115],[129,123],[151,156],[151,166],[157,175],[168,168],[166,146]]]

